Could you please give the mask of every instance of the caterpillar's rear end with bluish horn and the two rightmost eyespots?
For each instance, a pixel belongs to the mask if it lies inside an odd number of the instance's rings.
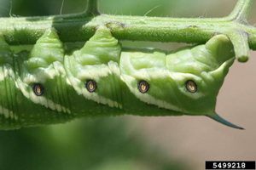
[[[127,64],[122,76],[131,92],[143,102],[181,115],[209,116],[237,127],[215,112],[218,91],[234,56],[229,38],[219,35],[205,45],[181,48],[167,55],[158,51],[123,54]]]

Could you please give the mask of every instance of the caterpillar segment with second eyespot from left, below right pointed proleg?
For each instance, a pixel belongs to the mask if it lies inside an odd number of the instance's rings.
[[[79,94],[84,99],[87,99],[83,103],[81,102],[81,105],[86,105],[86,103],[93,105],[93,107],[89,108],[92,115],[96,115],[97,109],[99,109],[98,115],[102,114],[102,108],[98,104],[108,106],[103,109],[103,116],[107,116],[111,112],[122,111],[119,71],[120,53],[120,44],[112,37],[110,31],[99,28],[95,36],[84,44],[84,48],[73,51],[72,54],[65,57],[67,77],[76,91],[75,95]],[[86,82],[89,81],[96,83],[94,92],[86,88]],[[81,105],[77,107],[78,112]],[[84,114],[86,114],[88,110],[84,111]]]

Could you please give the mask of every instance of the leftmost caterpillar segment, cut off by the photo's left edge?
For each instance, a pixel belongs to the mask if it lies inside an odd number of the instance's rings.
[[[0,35],[0,128],[19,128],[17,87],[15,84],[15,55]]]

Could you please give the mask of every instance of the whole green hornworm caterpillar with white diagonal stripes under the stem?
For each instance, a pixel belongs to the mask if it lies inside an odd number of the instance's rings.
[[[167,54],[122,49],[104,26],[68,53],[54,28],[20,54],[0,36],[0,129],[123,114],[209,116],[241,128],[215,112],[234,56],[224,35]]]

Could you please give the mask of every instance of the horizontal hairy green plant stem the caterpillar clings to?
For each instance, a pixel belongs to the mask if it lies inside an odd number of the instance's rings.
[[[240,0],[234,11],[224,18],[179,19],[146,16],[100,14],[97,3],[90,5],[82,14],[67,14],[46,17],[0,18],[0,32],[11,45],[33,44],[49,27],[60,32],[63,42],[88,40],[97,26],[105,25],[119,40],[204,43],[214,34],[229,36],[230,30],[247,34],[249,48],[256,50],[256,28],[241,19],[247,17],[253,0]]]

